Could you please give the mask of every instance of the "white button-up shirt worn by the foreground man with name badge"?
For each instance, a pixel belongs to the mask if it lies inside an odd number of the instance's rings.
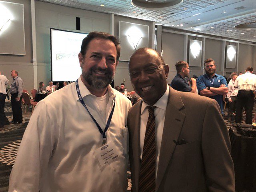
[[[115,101],[106,132],[120,156],[100,168],[95,150],[102,134],[78,99],[72,83],[40,101],[24,133],[10,176],[9,192],[124,192],[127,181],[128,128],[131,102],[108,86],[106,118],[96,96],[78,79],[80,94],[102,129]]]

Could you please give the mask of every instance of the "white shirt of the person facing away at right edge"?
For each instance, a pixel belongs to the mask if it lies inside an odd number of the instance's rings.
[[[238,90],[254,91],[256,87],[256,75],[247,71],[236,78],[234,86],[238,87]]]

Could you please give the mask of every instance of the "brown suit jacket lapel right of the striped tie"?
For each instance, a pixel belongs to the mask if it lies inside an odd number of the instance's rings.
[[[180,131],[185,119],[185,115],[179,110],[184,107],[179,92],[171,87],[169,91],[168,103],[164,120],[164,130],[162,135],[160,157],[158,162],[158,173],[156,178],[156,191],[166,172],[166,168],[172,158],[176,144],[173,140],[178,141]]]

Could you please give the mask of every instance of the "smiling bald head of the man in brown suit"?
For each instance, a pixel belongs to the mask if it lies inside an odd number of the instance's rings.
[[[148,104],[154,105],[167,88],[169,67],[162,65],[152,49],[137,50],[129,61],[130,80],[135,92]]]

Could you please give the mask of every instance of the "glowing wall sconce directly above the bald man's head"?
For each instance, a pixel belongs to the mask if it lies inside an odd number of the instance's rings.
[[[130,45],[136,50],[139,42],[141,41],[143,34],[137,27],[131,27],[127,30],[126,36]]]

